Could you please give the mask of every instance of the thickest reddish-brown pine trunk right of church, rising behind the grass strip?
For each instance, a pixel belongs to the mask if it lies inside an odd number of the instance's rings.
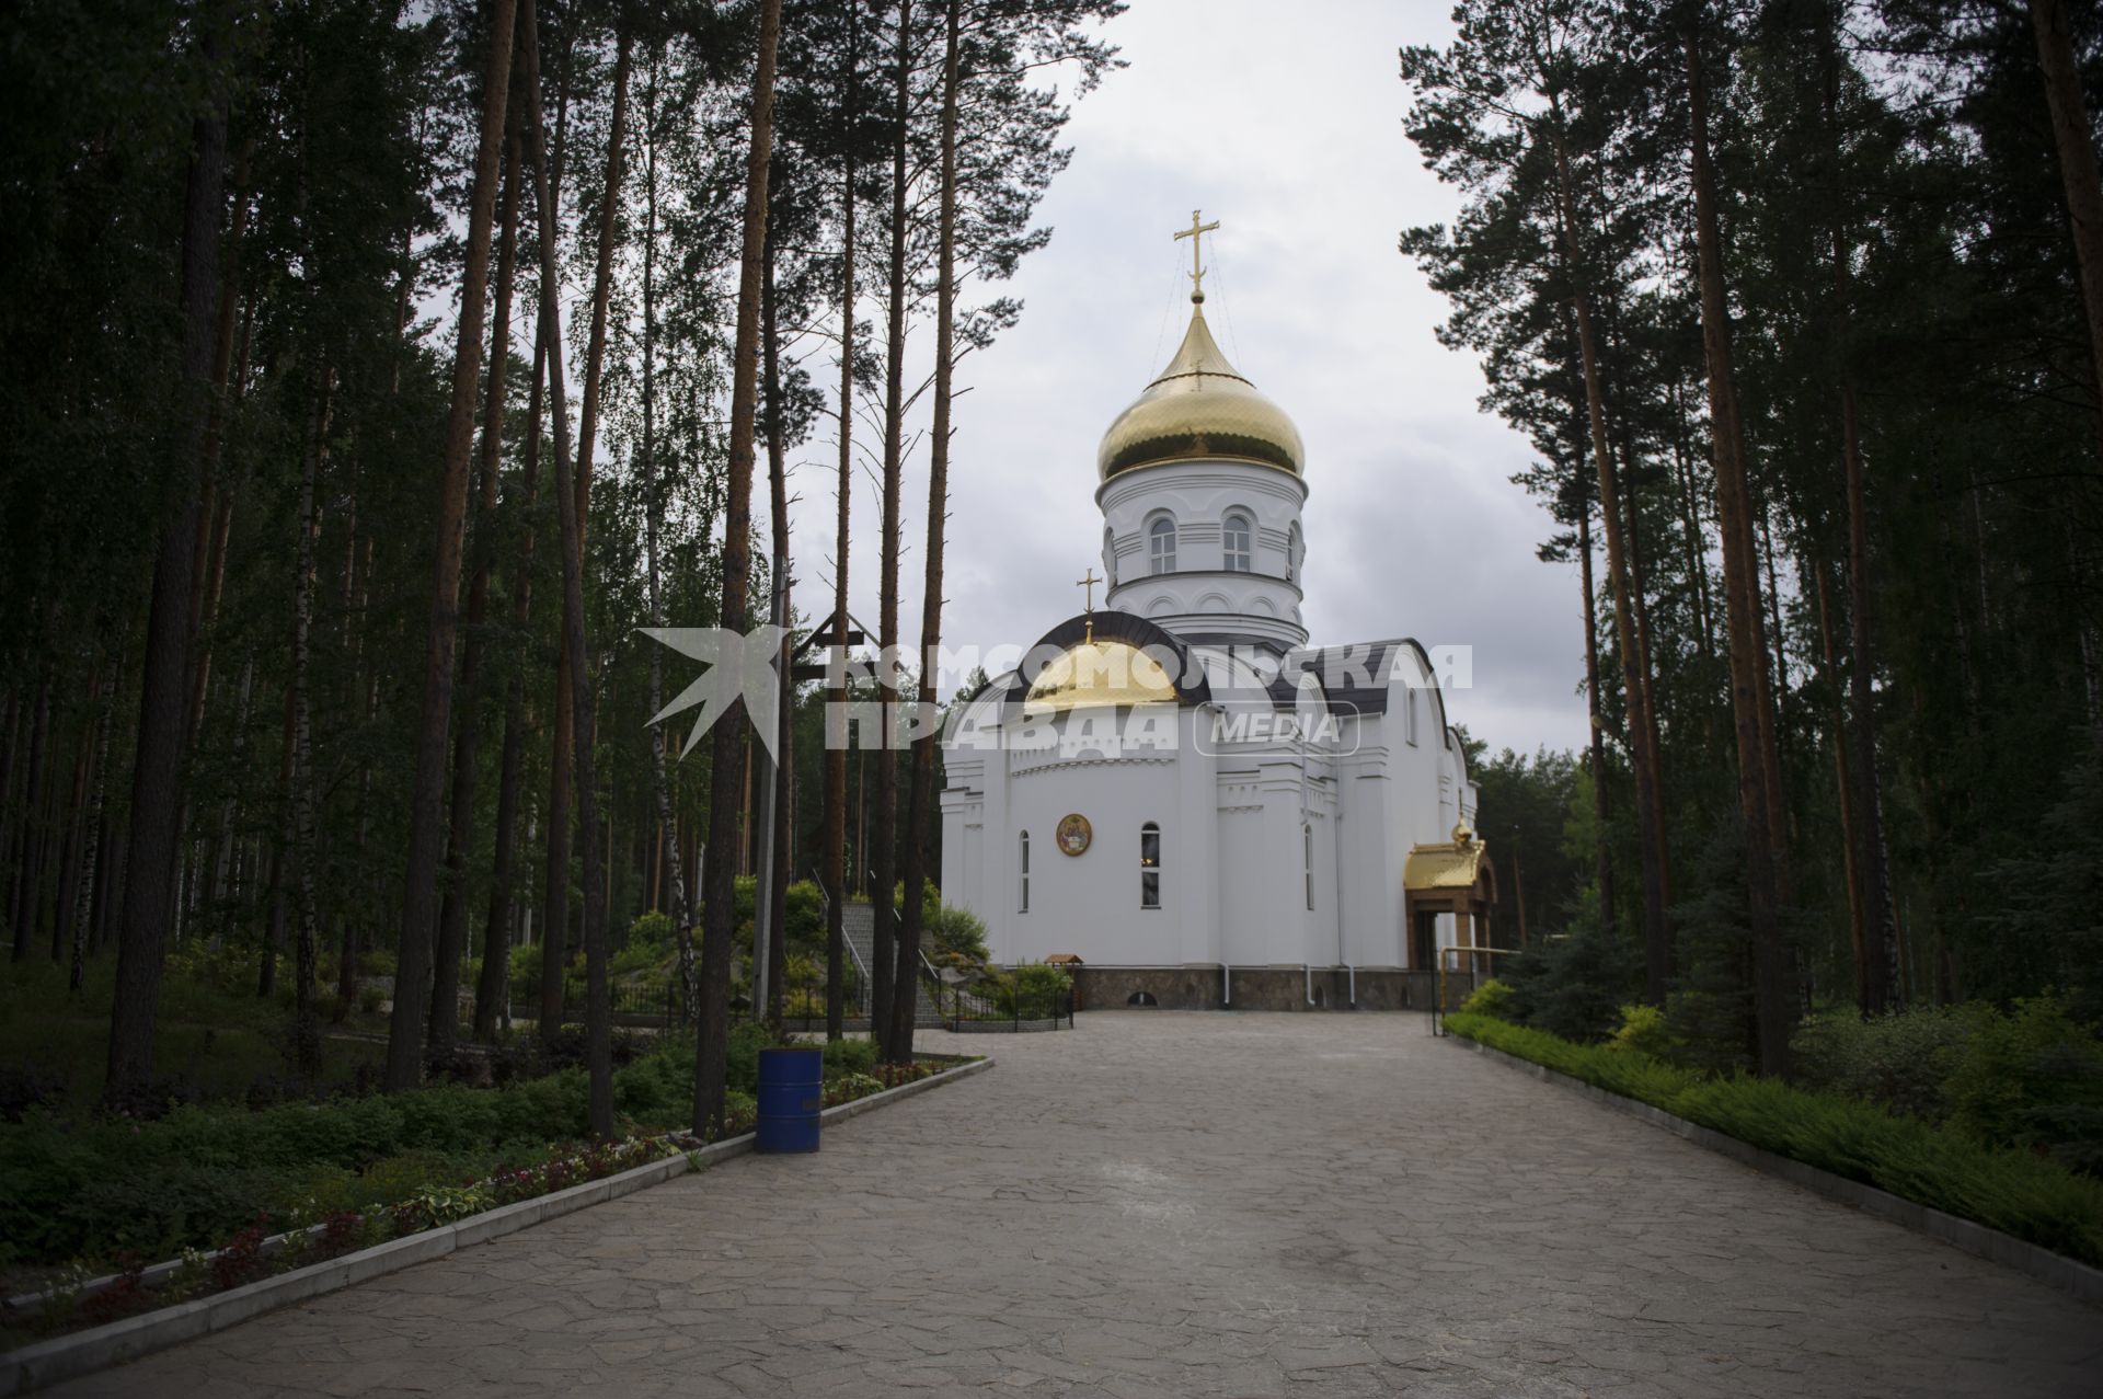
[[[1737,726],[1737,793],[1745,827],[1745,903],[1752,926],[1754,1022],[1760,1073],[1790,1065],[1790,949],[1781,936],[1777,898],[1779,837],[1771,827],[1767,743],[1773,738],[1767,696],[1767,646],[1760,635],[1758,555],[1752,547],[1752,492],[1745,482],[1745,440],[1737,417],[1731,366],[1729,305],[1722,284],[1722,234],[1716,217],[1716,173],[1708,154],[1708,86],[1699,29],[1687,32],[1687,76],[1695,187],[1695,250],[1701,276],[1701,345],[1708,360],[1710,435],[1716,454],[1716,509],[1722,532],[1724,621],[1731,635],[1731,713]]]

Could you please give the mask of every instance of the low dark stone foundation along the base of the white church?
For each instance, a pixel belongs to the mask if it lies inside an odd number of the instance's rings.
[[[1430,1010],[1436,997],[1432,972],[1403,968],[1237,966],[1232,1003],[1222,995],[1220,964],[1125,968],[1073,968],[1079,1010]],[[1356,1006],[1352,1006],[1356,982]],[[1308,1003],[1312,989],[1314,1003]],[[1466,972],[1447,974],[1447,1006],[1459,1006],[1470,991]],[[1146,999],[1150,997],[1152,1006]]]

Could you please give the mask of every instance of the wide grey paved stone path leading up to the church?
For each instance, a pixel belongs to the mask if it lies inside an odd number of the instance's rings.
[[[948,1048],[930,1035],[927,1048]],[[2103,1311],[1426,1035],[1083,1014],[69,1395],[2097,1395]]]

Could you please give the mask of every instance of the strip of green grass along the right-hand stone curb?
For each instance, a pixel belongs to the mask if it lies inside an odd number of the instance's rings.
[[[1775,1155],[2103,1266],[2103,1182],[2046,1155],[1987,1147],[1870,1102],[1773,1079],[1703,1077],[1649,1054],[1571,1043],[1483,1014],[1447,1016],[1447,1027]]]

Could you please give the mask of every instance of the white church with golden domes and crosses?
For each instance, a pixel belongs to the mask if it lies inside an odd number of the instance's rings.
[[[1300,431],[1211,339],[1211,227],[1102,438],[1104,576],[953,707],[942,896],[1085,1006],[1422,1008],[1436,949],[1499,932],[1476,789],[1417,642],[1308,646]]]

